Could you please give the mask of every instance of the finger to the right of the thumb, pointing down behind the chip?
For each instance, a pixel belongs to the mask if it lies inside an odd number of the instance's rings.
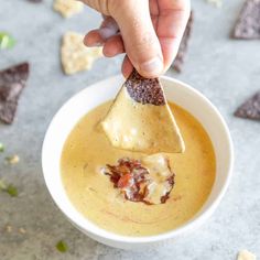
[[[188,0],[160,0],[158,2],[160,17],[156,30],[166,71],[177,54],[191,7]]]

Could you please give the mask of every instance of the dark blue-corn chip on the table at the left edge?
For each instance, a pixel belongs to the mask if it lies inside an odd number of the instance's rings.
[[[29,64],[22,63],[0,71],[0,120],[12,123],[19,97],[29,77]]]

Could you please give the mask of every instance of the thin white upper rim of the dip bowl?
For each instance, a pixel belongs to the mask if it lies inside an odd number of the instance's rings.
[[[95,86],[97,84],[102,84],[109,80],[118,80],[118,78],[121,78],[120,75],[117,76],[112,76],[109,78],[106,78],[104,80],[97,82],[91,84],[90,86],[87,86],[86,88],[79,90],[78,93],[76,93],[75,95],[73,95],[69,99],[67,99],[62,107],[55,112],[54,117],[52,118],[47,130],[45,132],[45,137],[43,140],[43,144],[42,144],[42,172],[43,172],[43,177],[45,181],[45,185],[47,186],[48,193],[51,194],[52,199],[54,201],[54,203],[56,204],[56,206],[59,208],[59,210],[69,219],[71,223],[73,223],[74,226],[76,226],[77,228],[79,228],[82,231],[84,231],[85,234],[89,234],[93,235],[93,237],[98,237],[98,238],[102,238],[105,240],[109,240],[112,242],[123,242],[123,243],[129,243],[129,245],[134,245],[134,243],[149,243],[149,242],[158,242],[158,241],[162,241],[162,240],[166,240],[170,238],[175,238],[180,235],[186,234],[189,230],[194,229],[195,227],[201,226],[203,223],[205,223],[210,216],[212,214],[215,212],[215,209],[217,208],[217,206],[219,205],[220,201],[223,199],[228,185],[230,183],[230,178],[232,175],[232,169],[234,169],[234,144],[232,144],[232,139],[231,139],[231,134],[229,132],[229,129],[223,118],[223,116],[220,115],[220,112],[217,110],[217,108],[209,101],[209,99],[207,99],[202,93],[199,93],[197,89],[191,87],[188,84],[185,84],[178,79],[169,77],[169,76],[162,76],[161,79],[166,80],[166,82],[171,82],[177,85],[181,85],[182,87],[185,88],[185,90],[192,91],[193,94],[197,95],[201,99],[203,99],[208,107],[210,107],[210,109],[214,111],[214,113],[217,116],[219,123],[221,124],[226,139],[227,139],[227,143],[228,143],[228,148],[227,148],[227,154],[229,156],[229,162],[228,162],[228,170],[227,170],[227,175],[225,178],[224,184],[221,185],[221,187],[219,188],[218,194],[216,195],[216,198],[212,202],[212,204],[205,209],[205,212],[203,212],[201,215],[195,216],[195,218],[189,219],[187,223],[183,224],[181,227],[177,227],[175,229],[172,229],[170,231],[166,232],[162,232],[159,235],[152,235],[152,236],[141,236],[141,237],[133,237],[133,236],[123,236],[123,235],[118,235],[111,231],[108,231],[106,229],[100,228],[98,225],[96,225],[95,223],[88,220],[90,224],[93,224],[94,226],[96,226],[98,229],[102,230],[102,234],[99,234],[98,231],[95,230],[90,230],[89,227],[87,226],[82,226],[78,223],[75,221],[75,219],[73,219],[69,216],[69,213],[66,212],[61,205],[59,205],[59,201],[58,197],[56,197],[53,192],[51,186],[48,185],[48,181],[45,174],[45,166],[44,166],[44,153],[46,152],[46,143],[47,143],[47,139],[48,139],[48,134],[50,134],[50,128],[53,124],[53,122],[55,121],[55,118],[59,115],[59,112],[64,109],[64,107],[66,107],[66,105],[72,100],[72,99],[76,99],[77,96],[80,96],[86,89],[89,88],[95,88]],[[68,198],[67,198],[68,199]],[[77,210],[77,209],[76,209]]]

